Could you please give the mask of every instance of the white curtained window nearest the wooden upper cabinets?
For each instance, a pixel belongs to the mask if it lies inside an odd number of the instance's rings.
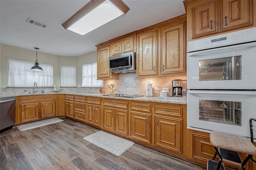
[[[82,66],[82,87],[103,86],[103,80],[97,80],[97,63]]]

